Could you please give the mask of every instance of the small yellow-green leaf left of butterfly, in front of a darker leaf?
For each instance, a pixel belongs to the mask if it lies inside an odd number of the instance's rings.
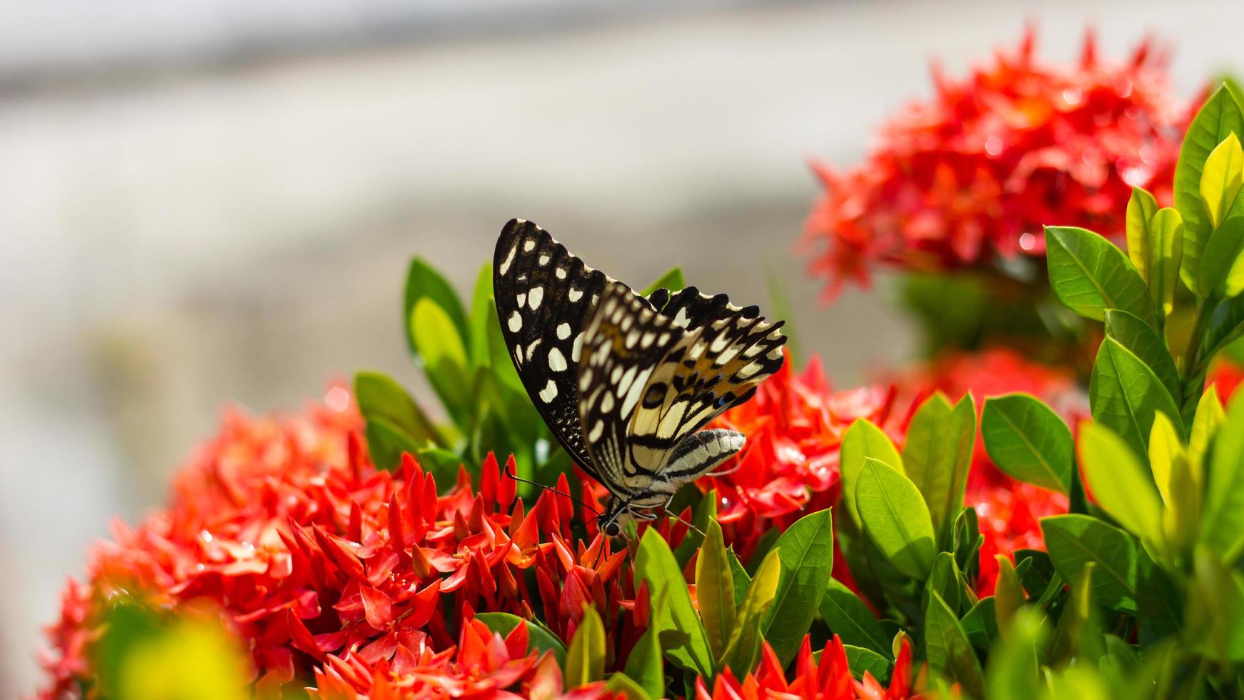
[[[450,316],[430,298],[420,298],[411,312],[411,333],[428,383],[459,425],[470,420],[470,383],[466,347]]]

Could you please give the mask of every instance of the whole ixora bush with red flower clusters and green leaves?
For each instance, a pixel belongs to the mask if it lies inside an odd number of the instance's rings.
[[[621,537],[511,364],[490,267],[465,305],[414,260],[406,329],[447,420],[372,372],[300,415],[230,414],[68,583],[42,695],[1244,695],[1244,399],[1220,364],[1244,336],[1244,107],[1223,86],[1176,148],[1156,67],[1090,42],[1050,71],[1029,40],[943,81],[835,180],[829,267],[1018,247],[1040,275],[988,274],[1034,313],[934,275],[967,332],[847,390],[787,357],[713,424],[746,448]],[[1015,334],[1037,317],[1082,364],[1039,362]]]

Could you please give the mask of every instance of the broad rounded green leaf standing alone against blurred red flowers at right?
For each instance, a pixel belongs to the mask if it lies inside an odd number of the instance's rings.
[[[1004,472],[1042,489],[1062,494],[1071,490],[1071,430],[1036,397],[985,399],[980,436],[989,459]]]

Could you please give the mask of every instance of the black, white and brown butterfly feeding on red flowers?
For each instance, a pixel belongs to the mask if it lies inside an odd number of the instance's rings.
[[[680,486],[746,438],[704,425],[750,399],[785,359],[782,322],[695,287],[648,296],[511,220],[493,256],[514,368],[566,453],[610,491],[597,525],[654,520]]]

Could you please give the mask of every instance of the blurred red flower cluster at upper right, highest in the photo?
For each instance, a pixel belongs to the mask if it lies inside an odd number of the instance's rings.
[[[1172,199],[1191,112],[1171,93],[1148,41],[1130,60],[1097,56],[1090,32],[1075,66],[1034,57],[1034,32],[960,81],[933,71],[935,94],[881,131],[846,173],[814,163],[825,195],[804,244],[826,298],[867,286],[877,262],[913,270],[980,267],[1044,255],[1041,226],[1086,226],[1121,240],[1132,187]]]

